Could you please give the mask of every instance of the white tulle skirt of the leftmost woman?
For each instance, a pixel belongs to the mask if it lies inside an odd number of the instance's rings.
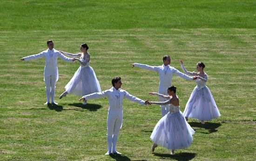
[[[100,83],[92,67],[80,66],[65,86],[67,93],[79,96],[101,92]]]

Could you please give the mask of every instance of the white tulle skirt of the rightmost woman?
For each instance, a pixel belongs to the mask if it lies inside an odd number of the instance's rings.
[[[211,120],[221,116],[211,91],[207,86],[201,89],[195,87],[183,114],[185,117],[195,118],[200,121]]]

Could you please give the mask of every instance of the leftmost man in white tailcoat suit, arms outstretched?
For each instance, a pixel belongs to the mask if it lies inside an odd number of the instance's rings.
[[[45,105],[50,104],[50,95],[52,97],[52,104],[57,105],[54,101],[54,94],[55,94],[55,85],[59,79],[58,67],[57,67],[57,59],[60,57],[62,60],[73,62],[72,58],[68,58],[61,54],[59,51],[54,49],[54,42],[53,40],[47,41],[48,49],[42,51],[39,54],[30,55],[27,57],[20,58],[21,61],[23,60],[32,60],[38,59],[41,57],[45,57],[45,67],[44,67],[44,81],[45,81],[45,91],[47,102]]]

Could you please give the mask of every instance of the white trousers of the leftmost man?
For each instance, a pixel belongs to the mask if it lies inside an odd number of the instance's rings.
[[[50,75],[48,77],[45,77],[44,79],[45,79],[45,92],[46,92],[47,102],[50,103],[50,95],[51,95],[52,103],[54,103],[57,75]]]

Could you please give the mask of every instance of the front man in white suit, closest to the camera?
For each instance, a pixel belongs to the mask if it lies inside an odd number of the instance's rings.
[[[122,82],[120,77],[115,77],[112,80],[113,87],[98,93],[88,94],[82,96],[79,101],[89,100],[94,98],[108,97],[108,120],[107,120],[107,140],[108,140],[108,152],[105,155],[114,153],[121,154],[116,151],[116,143],[118,139],[119,130],[122,125],[123,120],[123,98],[126,97],[131,101],[135,101],[140,104],[148,105],[150,104],[148,100],[143,101],[125,90],[120,89]],[[112,150],[112,151],[111,151]]]

